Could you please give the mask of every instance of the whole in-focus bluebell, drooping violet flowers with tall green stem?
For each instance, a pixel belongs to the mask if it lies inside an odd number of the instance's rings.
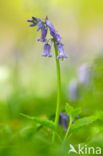
[[[37,31],[41,30],[41,37],[37,40],[39,42],[45,43],[44,44],[44,50],[42,53],[42,56],[44,57],[51,57],[51,45],[49,41],[54,43],[54,49],[55,49],[55,58],[56,58],[56,68],[57,68],[57,105],[56,105],[56,114],[55,114],[55,126],[58,127],[59,124],[59,112],[60,112],[60,98],[61,98],[61,78],[60,78],[60,60],[63,60],[64,58],[67,58],[67,56],[64,54],[64,44],[61,42],[61,36],[56,31],[55,27],[51,23],[51,21],[48,20],[48,17],[46,16],[45,21],[42,21],[39,18],[32,17],[32,19],[27,20],[27,22],[30,23],[30,27],[37,26]],[[52,38],[47,40],[47,33],[48,30],[50,32],[50,35]],[[56,132],[53,132],[53,142],[55,141]]]

